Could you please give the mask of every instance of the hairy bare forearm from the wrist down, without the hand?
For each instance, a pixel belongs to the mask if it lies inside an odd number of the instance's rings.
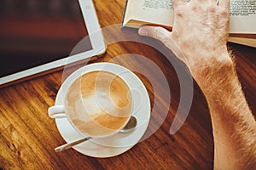
[[[229,54],[224,54],[229,55]],[[192,71],[212,117],[216,169],[256,167],[256,122],[229,56]]]

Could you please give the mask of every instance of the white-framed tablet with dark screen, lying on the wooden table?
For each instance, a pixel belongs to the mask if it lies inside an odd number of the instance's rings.
[[[0,87],[106,50],[92,0],[2,0],[0,23]]]

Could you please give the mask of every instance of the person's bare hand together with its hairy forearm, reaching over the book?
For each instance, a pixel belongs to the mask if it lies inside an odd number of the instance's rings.
[[[256,169],[256,122],[226,47],[229,4],[175,0],[172,31],[143,26],[139,34],[170,48],[205,94],[212,118],[214,168]]]

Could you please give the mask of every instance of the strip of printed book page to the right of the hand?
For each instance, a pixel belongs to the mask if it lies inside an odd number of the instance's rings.
[[[256,0],[230,0],[230,33],[256,33]]]

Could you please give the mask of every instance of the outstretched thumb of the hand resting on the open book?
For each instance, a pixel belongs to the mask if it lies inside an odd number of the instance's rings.
[[[166,38],[171,36],[171,32],[160,26],[142,26],[139,31],[139,35],[154,37],[160,42],[166,42]]]

